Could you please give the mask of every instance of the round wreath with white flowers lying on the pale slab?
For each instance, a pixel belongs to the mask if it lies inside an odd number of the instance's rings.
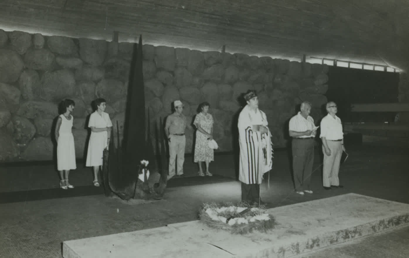
[[[276,225],[274,217],[263,207],[246,203],[205,203],[199,212],[200,221],[214,229],[233,234],[246,234],[254,230],[266,232]]]

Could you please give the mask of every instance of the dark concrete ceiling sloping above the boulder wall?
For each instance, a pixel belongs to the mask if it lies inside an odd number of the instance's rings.
[[[1,0],[0,28],[409,70],[407,0]]]

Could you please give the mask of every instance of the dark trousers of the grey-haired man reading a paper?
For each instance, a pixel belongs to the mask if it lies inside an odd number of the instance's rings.
[[[292,170],[295,190],[310,190],[314,163],[314,139],[292,139]]]

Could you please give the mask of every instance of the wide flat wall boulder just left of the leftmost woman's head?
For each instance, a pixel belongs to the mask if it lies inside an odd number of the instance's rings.
[[[30,100],[23,102],[17,111],[17,115],[29,118],[52,118],[58,115],[58,106],[53,102]]]

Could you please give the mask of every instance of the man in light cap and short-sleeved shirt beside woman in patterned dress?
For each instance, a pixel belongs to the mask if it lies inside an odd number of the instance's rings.
[[[180,100],[173,102],[175,111],[168,116],[165,124],[165,134],[169,141],[169,175],[168,180],[176,175],[183,175],[184,148],[186,138],[184,129],[186,128],[186,117],[182,114],[183,104]],[[178,160],[176,161],[176,157]],[[175,172],[175,161],[177,170]]]

